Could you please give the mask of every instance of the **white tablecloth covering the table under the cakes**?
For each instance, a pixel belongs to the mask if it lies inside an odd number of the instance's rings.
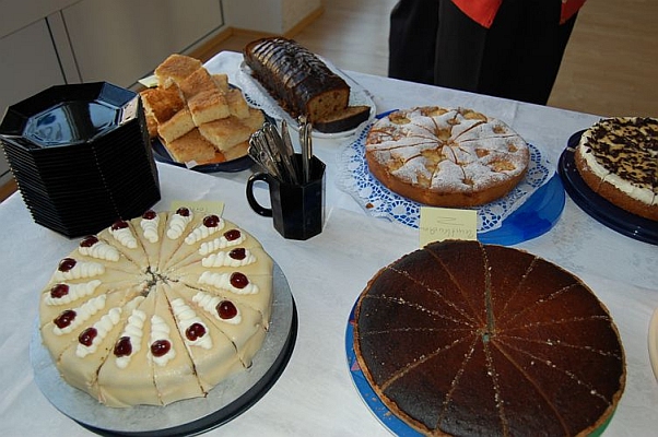
[[[242,57],[218,55],[211,71],[236,81]],[[554,162],[567,138],[598,117],[469,93],[350,72],[374,96],[377,111],[416,105],[463,106],[505,120]],[[418,247],[418,232],[368,216],[337,188],[337,161],[350,138],[315,140],[327,163],[327,221],[307,241],[283,239],[270,220],[255,214],[245,198],[249,172],[203,175],[158,165],[163,199],[216,200],[224,216],[251,232],[277,260],[297,305],[298,336],[279,381],[248,411],[211,435],[381,435],[388,434],[365,406],[346,365],[344,334],[350,310],[371,276]],[[265,191],[265,190],[261,190]],[[260,194],[265,196],[263,192]],[[69,240],[32,221],[19,194],[0,205],[3,248],[0,306],[0,435],[86,435],[39,392],[28,356],[38,294],[57,262],[72,250]],[[547,235],[519,244],[580,276],[608,306],[626,353],[626,389],[606,435],[655,435],[658,385],[647,352],[650,316],[658,307],[658,247],[622,236],[592,220],[567,198],[564,213]]]

